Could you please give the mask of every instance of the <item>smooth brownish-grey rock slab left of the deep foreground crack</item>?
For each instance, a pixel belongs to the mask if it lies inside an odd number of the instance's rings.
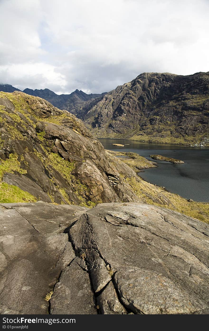
[[[75,254],[68,234],[86,208],[47,203],[0,206],[0,313],[47,314],[44,300]]]

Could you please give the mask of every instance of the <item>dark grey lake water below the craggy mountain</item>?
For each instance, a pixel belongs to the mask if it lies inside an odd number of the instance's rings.
[[[157,162],[157,168],[145,169],[139,175],[146,181],[164,186],[168,191],[177,193],[194,201],[209,202],[209,148],[188,147],[143,143],[126,139],[99,139],[105,149],[112,151],[134,152],[148,160]],[[130,144],[124,147],[112,144]],[[174,165],[166,161],[155,161],[151,154],[159,154],[185,162]]]

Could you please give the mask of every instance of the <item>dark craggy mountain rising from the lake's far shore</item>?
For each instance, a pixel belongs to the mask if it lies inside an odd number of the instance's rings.
[[[145,72],[76,115],[97,137],[208,146],[209,72]]]

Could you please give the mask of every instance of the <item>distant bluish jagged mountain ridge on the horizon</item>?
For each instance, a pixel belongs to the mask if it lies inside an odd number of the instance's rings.
[[[9,84],[0,84],[0,91],[3,92],[14,92],[14,91],[20,91],[18,88],[9,85]],[[29,88],[24,89],[23,91],[26,94],[40,97],[42,99],[45,99],[49,101],[53,106],[58,107],[59,109],[65,109],[69,111],[72,114],[76,114],[80,108],[84,105],[84,103],[90,99],[95,99],[98,97],[101,97],[105,95],[105,93],[102,94],[86,94],[83,91],[79,91],[76,89],[71,94],[56,94],[53,91],[49,90],[48,88],[45,88],[44,90],[32,90]]]

